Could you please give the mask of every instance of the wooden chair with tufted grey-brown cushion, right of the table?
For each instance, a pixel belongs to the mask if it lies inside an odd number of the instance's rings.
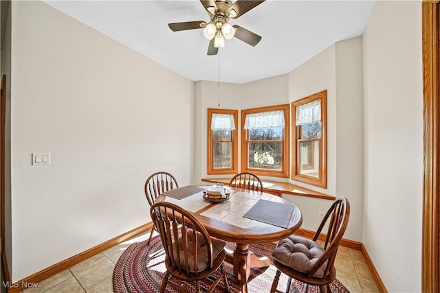
[[[279,292],[276,288],[281,272],[289,277],[286,292],[289,292],[292,278],[305,283],[303,292],[307,292],[307,285],[318,285],[320,292],[331,292],[329,285],[336,279],[336,253],[349,216],[349,200],[338,198],[327,211],[313,239],[291,235],[278,242],[272,252],[277,270],[270,292]],[[321,246],[318,237],[327,222],[327,235]]]

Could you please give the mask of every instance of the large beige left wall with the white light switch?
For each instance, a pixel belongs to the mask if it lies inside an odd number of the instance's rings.
[[[12,27],[18,281],[150,222],[149,174],[190,183],[194,84],[40,1],[13,1]]]

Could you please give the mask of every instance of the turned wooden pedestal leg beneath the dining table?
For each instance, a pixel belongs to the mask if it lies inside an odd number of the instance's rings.
[[[248,278],[250,268],[270,266],[268,257],[256,257],[249,250],[249,244],[237,243],[234,250],[234,276],[241,281],[241,292],[248,292]]]

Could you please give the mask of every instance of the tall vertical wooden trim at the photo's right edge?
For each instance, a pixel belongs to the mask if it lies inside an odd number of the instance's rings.
[[[423,1],[422,292],[440,292],[440,2]]]

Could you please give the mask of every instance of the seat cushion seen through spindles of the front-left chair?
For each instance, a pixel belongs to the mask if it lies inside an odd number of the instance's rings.
[[[188,238],[191,237],[190,234],[191,231],[188,231]],[[216,259],[219,256],[223,248],[225,248],[226,242],[211,237],[211,243],[212,243],[212,261],[214,261],[214,259]],[[201,233],[197,233],[197,270],[194,261],[195,250],[192,245],[192,241],[188,242],[187,251],[188,251],[188,268],[190,272],[192,273],[201,272],[206,268],[208,268],[208,266],[210,265],[210,263],[208,263],[208,246],[206,245],[205,238],[203,237],[203,235],[201,235]],[[186,257],[185,257],[184,248],[182,246],[181,238],[179,239],[179,251],[174,255],[175,263],[179,263],[179,260],[180,260],[181,268],[184,268],[186,266]]]

